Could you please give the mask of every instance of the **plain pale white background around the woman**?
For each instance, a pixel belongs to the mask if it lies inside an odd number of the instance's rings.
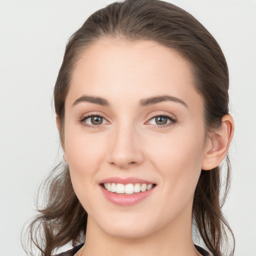
[[[0,0],[0,256],[21,256],[23,223],[40,180],[58,162],[51,109],[68,37],[110,0]],[[235,135],[224,213],[235,256],[256,256],[256,1],[172,0],[219,42],[230,71]]]

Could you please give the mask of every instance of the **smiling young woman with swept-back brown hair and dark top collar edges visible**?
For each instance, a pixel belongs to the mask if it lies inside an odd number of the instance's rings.
[[[41,255],[70,241],[79,245],[59,255],[208,255],[192,224],[223,255],[227,90],[219,45],[184,10],[125,0],[94,12],[71,36],[54,88],[66,163],[30,225]]]

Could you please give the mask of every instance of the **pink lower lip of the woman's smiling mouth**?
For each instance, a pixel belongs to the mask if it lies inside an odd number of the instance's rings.
[[[146,190],[144,192],[138,192],[138,193],[125,195],[125,194],[117,194],[117,193],[110,192],[110,191],[106,190],[105,188],[103,188],[102,186],[100,186],[100,189],[103,192],[103,195],[106,197],[106,199],[108,201],[110,201],[114,204],[122,205],[122,206],[133,205],[133,204],[141,201],[142,199],[149,196],[152,193],[152,191],[154,190],[154,188],[155,188],[155,186],[153,186],[151,189]]]

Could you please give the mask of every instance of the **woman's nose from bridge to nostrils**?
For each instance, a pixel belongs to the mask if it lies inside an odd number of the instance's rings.
[[[144,156],[139,138],[132,125],[116,127],[110,137],[108,162],[121,169],[141,164]]]

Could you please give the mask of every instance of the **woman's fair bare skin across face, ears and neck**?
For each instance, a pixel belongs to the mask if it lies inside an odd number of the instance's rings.
[[[207,134],[190,70],[174,50],[142,40],[102,38],[77,61],[65,100],[63,141],[74,191],[88,213],[86,244],[76,255],[200,255],[191,235],[194,190],[201,169],[224,158],[233,122],[226,115],[221,128]],[[110,106],[74,104],[83,95],[102,97]],[[159,95],[185,104],[139,106],[141,99]],[[103,116],[103,123],[80,122],[90,113]],[[157,126],[155,116],[162,114],[175,121]],[[142,201],[120,206],[99,187],[113,176],[156,186]]]

